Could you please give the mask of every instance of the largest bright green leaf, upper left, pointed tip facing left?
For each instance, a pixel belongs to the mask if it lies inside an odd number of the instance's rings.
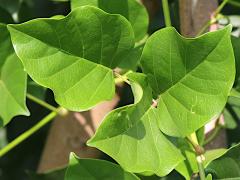
[[[52,89],[56,101],[73,111],[113,98],[112,69],[134,46],[124,17],[90,6],[62,19],[36,19],[8,29],[31,78]]]

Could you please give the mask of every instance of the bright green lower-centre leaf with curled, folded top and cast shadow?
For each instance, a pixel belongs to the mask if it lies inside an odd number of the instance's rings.
[[[158,109],[150,107],[152,91],[146,76],[132,73],[128,78],[135,103],[109,113],[88,145],[107,153],[127,171],[165,176],[183,156],[157,126]]]

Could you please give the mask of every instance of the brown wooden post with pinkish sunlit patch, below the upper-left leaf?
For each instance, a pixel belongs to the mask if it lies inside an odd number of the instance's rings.
[[[112,101],[101,103],[89,111],[70,112],[66,117],[57,117],[51,125],[38,173],[65,167],[70,152],[76,153],[81,158],[98,158],[100,151],[86,146],[86,142],[119,100],[120,96],[117,93]]]

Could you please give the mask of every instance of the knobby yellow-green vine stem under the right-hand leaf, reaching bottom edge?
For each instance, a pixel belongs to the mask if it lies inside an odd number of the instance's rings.
[[[196,161],[197,161],[197,164],[198,164],[200,179],[205,180],[206,176],[205,176],[204,165],[203,165],[203,161],[205,160],[205,157],[203,155],[204,154],[204,149],[203,149],[203,147],[201,147],[199,145],[196,133],[192,133],[188,137],[188,140],[192,144],[192,146],[193,146],[193,148],[196,152],[196,155],[197,155]]]

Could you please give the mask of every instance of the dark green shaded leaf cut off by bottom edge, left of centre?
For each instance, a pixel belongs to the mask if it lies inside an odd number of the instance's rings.
[[[140,180],[136,175],[124,171],[117,164],[97,159],[79,159],[71,154],[65,180],[78,179]]]

